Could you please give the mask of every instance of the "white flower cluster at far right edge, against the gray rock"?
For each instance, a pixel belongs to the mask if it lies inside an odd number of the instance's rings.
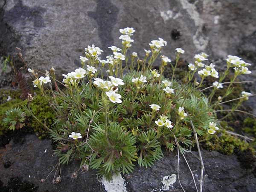
[[[236,75],[241,74],[250,74],[252,73],[246,66],[251,65],[250,63],[246,63],[245,61],[241,60],[240,57],[227,55],[227,65],[232,66],[235,70]]]

